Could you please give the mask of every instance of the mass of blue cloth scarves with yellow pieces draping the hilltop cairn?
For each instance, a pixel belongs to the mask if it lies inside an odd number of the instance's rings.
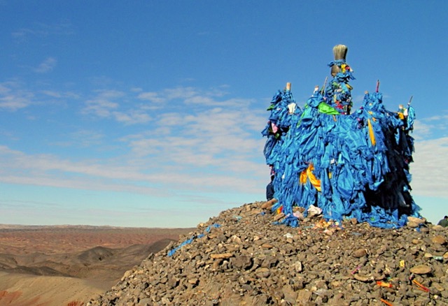
[[[267,109],[264,154],[278,200],[272,210],[286,214],[282,223],[289,226],[299,224],[295,207],[306,214],[314,205],[327,220],[356,218],[372,226],[401,227],[420,210],[409,185],[414,109],[408,105],[407,116],[400,117],[374,92],[349,115],[351,69],[342,60],[330,64],[339,65],[339,72],[325,92],[314,90],[303,110],[291,112],[295,101],[286,90],[276,92]]]

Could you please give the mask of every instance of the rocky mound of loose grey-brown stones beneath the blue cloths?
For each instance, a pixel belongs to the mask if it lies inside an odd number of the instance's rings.
[[[225,210],[125,272],[97,305],[448,305],[448,229],[384,229],[264,202]]]

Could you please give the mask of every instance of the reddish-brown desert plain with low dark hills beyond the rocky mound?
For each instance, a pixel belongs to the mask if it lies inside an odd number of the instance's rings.
[[[0,306],[81,306],[191,231],[0,224]]]

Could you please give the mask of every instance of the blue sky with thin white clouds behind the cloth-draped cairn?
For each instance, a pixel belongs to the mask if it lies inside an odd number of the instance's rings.
[[[448,214],[445,1],[0,0],[0,224],[190,227],[262,201],[277,89],[349,47],[354,108],[413,96],[412,196]]]

